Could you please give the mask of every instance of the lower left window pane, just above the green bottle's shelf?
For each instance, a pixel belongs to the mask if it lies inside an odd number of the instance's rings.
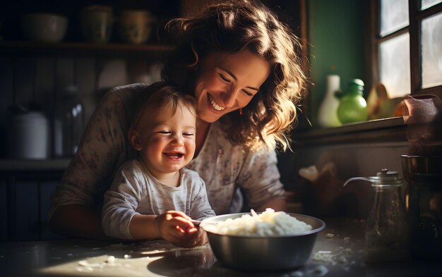
[[[390,98],[409,94],[410,34],[405,33],[379,44],[379,72]]]

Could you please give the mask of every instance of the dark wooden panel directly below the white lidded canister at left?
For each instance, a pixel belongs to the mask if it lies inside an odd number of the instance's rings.
[[[12,183],[15,191],[15,233],[13,240],[39,240],[39,186],[34,182]]]

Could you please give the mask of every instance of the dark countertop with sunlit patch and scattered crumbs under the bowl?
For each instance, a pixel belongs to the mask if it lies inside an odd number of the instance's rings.
[[[222,266],[209,245],[190,250],[168,242],[98,240],[0,242],[1,276],[435,276],[436,261],[364,262],[362,220],[325,219],[311,258],[293,271],[244,272]]]

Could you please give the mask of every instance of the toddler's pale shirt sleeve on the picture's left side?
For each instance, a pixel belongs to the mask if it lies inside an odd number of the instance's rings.
[[[129,169],[119,171],[114,182],[104,194],[102,228],[111,238],[132,239],[129,224],[143,197],[143,178],[137,178]]]

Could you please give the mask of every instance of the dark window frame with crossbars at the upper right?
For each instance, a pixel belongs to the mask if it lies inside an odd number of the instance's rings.
[[[381,0],[370,1],[371,16],[369,17],[369,66],[371,68],[371,74],[369,74],[369,83],[374,84],[379,81],[379,44],[408,32],[410,34],[410,94],[435,94],[442,98],[442,85],[422,88],[422,51],[420,47],[422,20],[430,16],[434,16],[437,13],[441,13],[442,3],[431,6],[430,8],[426,8],[423,11],[420,10],[420,3],[420,0],[409,0],[408,14],[410,16],[410,24],[386,35],[385,37],[381,37],[379,35],[381,25],[379,19],[381,15]]]

